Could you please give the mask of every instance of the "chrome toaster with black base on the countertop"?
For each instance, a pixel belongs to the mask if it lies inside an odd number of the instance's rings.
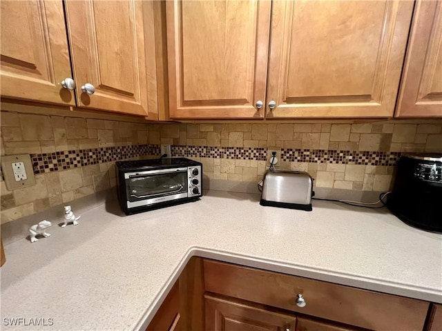
[[[268,170],[260,205],[311,211],[313,180],[308,172]]]

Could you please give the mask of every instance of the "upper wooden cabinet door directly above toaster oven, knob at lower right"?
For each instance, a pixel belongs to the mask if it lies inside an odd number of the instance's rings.
[[[166,1],[169,116],[260,118],[270,1]]]

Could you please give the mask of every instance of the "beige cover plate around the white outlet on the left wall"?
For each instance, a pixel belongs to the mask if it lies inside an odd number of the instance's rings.
[[[15,180],[15,173],[12,163],[23,163],[26,172],[26,179],[22,177],[23,179],[20,181]],[[1,170],[3,173],[3,178],[5,179],[6,188],[8,190],[17,190],[19,188],[26,188],[26,186],[35,185],[34,169],[32,168],[32,162],[30,161],[29,154],[6,155],[1,157]]]

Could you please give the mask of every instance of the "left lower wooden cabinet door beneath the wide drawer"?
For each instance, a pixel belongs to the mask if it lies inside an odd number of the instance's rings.
[[[294,331],[296,317],[204,295],[206,331]]]

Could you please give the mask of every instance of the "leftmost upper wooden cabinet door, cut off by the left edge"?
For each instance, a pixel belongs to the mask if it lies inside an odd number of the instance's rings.
[[[74,105],[61,1],[1,1],[1,95]]]

